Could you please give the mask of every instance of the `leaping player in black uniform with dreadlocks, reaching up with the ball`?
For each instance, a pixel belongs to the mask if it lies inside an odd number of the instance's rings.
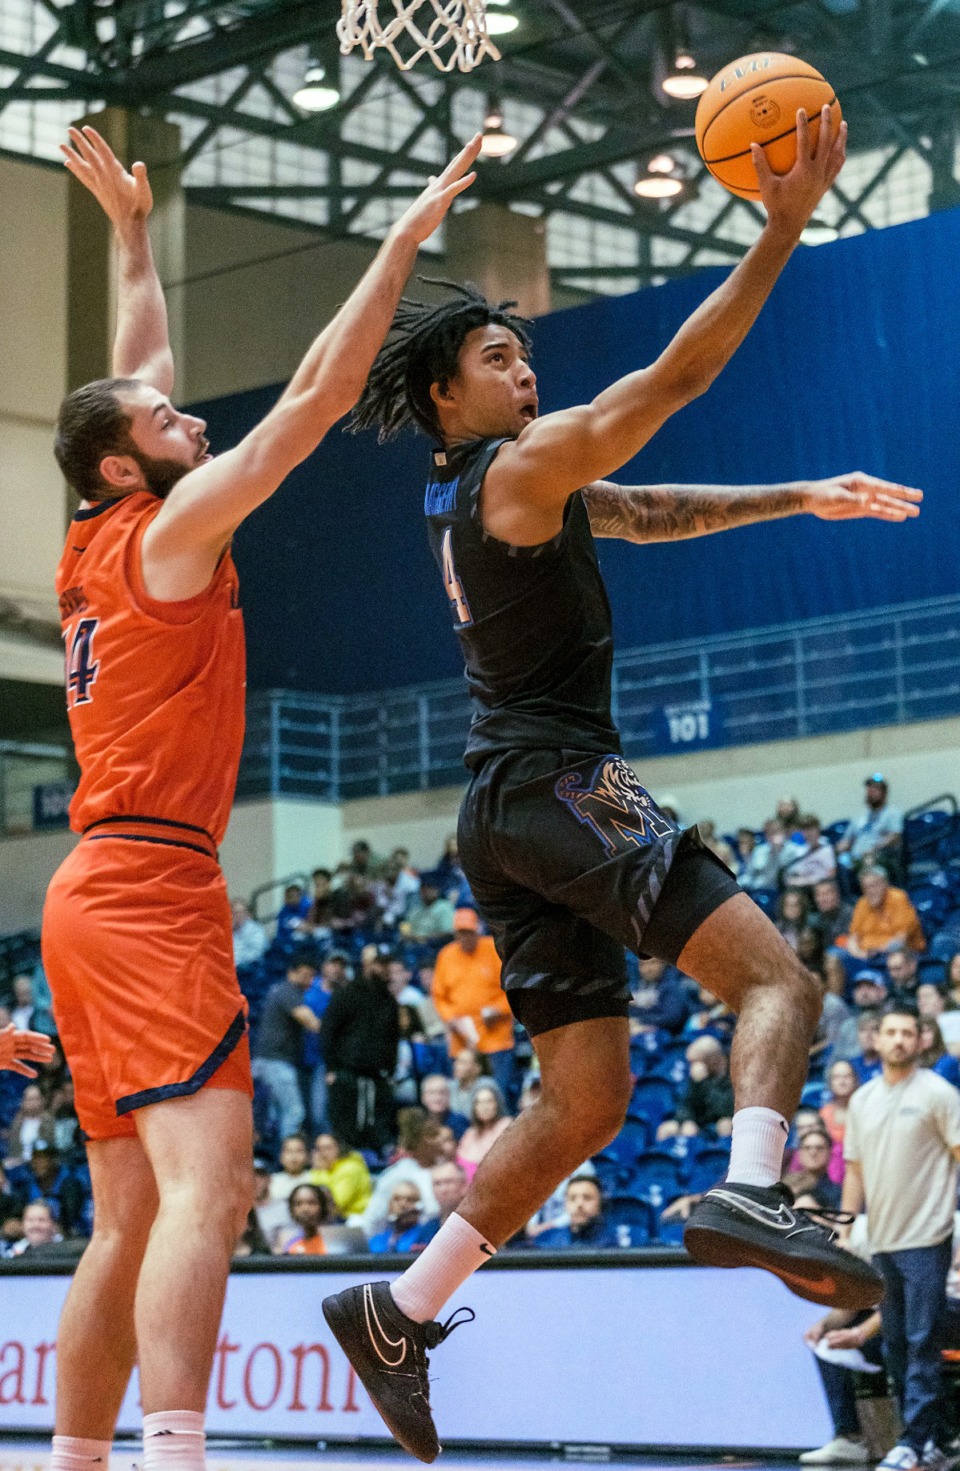
[[[663,541],[812,512],[917,513],[919,491],[854,474],[794,485],[626,488],[604,477],[704,393],[753,325],[835,179],[829,113],[782,178],[757,152],[767,224],[741,265],[650,366],[592,403],[538,418],[526,324],[473,288],[404,303],[357,425],[419,425],[440,444],[425,513],[466,659],[472,780],[460,859],[497,941],[510,1006],[540,1059],[541,1097],[481,1164],[459,1211],[393,1284],[329,1297],[328,1322],[397,1439],[432,1461],[426,1350],[443,1303],[557,1184],[620,1130],[631,1097],[623,947],[654,955],[738,1014],[728,1180],[694,1211],[691,1255],[764,1267],[800,1296],[875,1306],[882,1280],[792,1209],[779,1186],[787,1119],[822,993],[697,830],[681,833],[620,756],[610,712],[610,609],[594,537]]]

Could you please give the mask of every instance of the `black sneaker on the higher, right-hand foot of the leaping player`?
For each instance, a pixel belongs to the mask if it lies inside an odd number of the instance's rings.
[[[847,1224],[839,1211],[794,1206],[784,1184],[719,1184],[689,1214],[684,1246],[701,1267],[762,1267],[797,1297],[828,1308],[876,1308],[884,1278],[869,1262],[837,1246],[822,1219]]]

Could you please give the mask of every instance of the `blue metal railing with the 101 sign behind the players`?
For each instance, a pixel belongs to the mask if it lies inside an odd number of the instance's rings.
[[[632,758],[959,715],[960,596],[626,650],[613,712]],[[254,691],[238,796],[344,802],[463,783],[469,718],[462,680]]]

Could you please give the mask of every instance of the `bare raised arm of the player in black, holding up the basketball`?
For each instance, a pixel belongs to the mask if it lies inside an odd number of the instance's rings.
[[[845,124],[834,135],[823,109],[812,153],[807,118],[800,112],[797,162],[782,177],[772,174],[754,146],[767,210],[760,238],[651,366],[615,382],[592,403],[544,415],[504,444],[487,474],[488,507],[491,497],[497,505],[562,507],[572,491],[613,474],[670,415],[707,391],[756,322],[804,225],[839,174],[845,140]]]

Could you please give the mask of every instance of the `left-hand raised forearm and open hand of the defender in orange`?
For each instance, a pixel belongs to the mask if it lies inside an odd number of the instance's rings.
[[[96,128],[71,128],[63,162],[94,196],[113,225],[118,256],[113,377],[140,378],[173,391],[173,355],[163,288],[153,263],[147,216],[153,193],[144,163],[128,174]]]

